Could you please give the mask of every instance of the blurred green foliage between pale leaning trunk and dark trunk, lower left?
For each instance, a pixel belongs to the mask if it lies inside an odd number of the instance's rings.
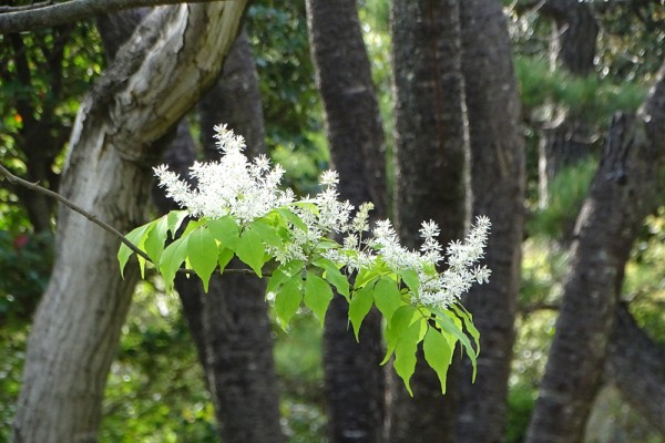
[[[111,367],[100,441],[217,442],[205,375],[176,297],[142,281]]]

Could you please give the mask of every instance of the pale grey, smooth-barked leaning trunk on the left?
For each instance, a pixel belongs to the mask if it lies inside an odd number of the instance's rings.
[[[244,1],[161,8],[81,104],[61,194],[120,230],[145,220],[153,145],[209,87]],[[135,270],[120,278],[119,240],[61,210],[57,258],[28,343],[13,440],[95,441],[108,371]]]

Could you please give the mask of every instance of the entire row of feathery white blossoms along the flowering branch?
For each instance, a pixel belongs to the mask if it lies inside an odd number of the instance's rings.
[[[308,260],[324,237],[341,234],[345,236],[342,247],[326,249],[323,253],[326,258],[346,266],[349,274],[370,268],[377,260],[397,274],[412,270],[420,281],[418,293],[412,295],[412,301],[417,303],[446,308],[457,301],[472,282],[488,281],[489,269],[472,267],[483,257],[491,226],[487,217],[477,218],[463,243],[453,241],[448,246],[447,269],[439,274],[436,266],[444,257],[437,240],[440,230],[436,223],[422,224],[420,235],[423,243],[419,251],[401,246],[389,220],[378,222],[368,236],[369,212],[374,206],[370,203],[360,205],[351,217],[352,205],[339,200],[336,172],[327,171],[321,175],[323,190],[315,197],[295,202],[290,189],[278,189],[284,174],[279,165],[270,167],[263,155],[250,163],[243,154],[245,141],[242,136],[235,135],[226,125],[215,126],[215,130],[223,155],[218,162],[192,166],[191,176],[197,182],[195,189],[165,166],[155,168],[160,186],[166,188],[166,196],[187,208],[194,217],[232,215],[244,224],[288,205],[307,229],[289,225],[287,244],[282,248],[266,245],[267,253],[278,262]]]

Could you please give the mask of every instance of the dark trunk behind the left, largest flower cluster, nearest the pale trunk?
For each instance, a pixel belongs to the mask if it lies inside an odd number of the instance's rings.
[[[213,126],[219,123],[245,137],[248,155],[265,153],[258,79],[245,32],[238,35],[200,113],[207,158],[219,157],[213,140]],[[202,297],[201,284],[197,287]],[[283,442],[265,282],[256,276],[227,274],[214,276],[209,289],[202,298],[202,320],[206,373],[222,441]]]

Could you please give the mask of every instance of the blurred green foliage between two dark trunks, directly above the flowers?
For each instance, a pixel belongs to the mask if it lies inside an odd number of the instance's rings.
[[[299,194],[313,193],[319,171],[328,166],[305,17],[305,0],[260,0],[247,10],[267,145]]]

